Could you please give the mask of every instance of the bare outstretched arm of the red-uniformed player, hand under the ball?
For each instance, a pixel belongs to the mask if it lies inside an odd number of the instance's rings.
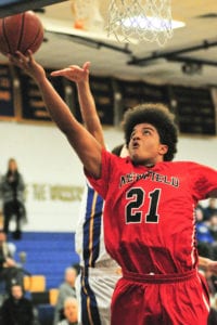
[[[52,120],[65,133],[88,172],[94,178],[99,178],[102,146],[75,119],[68,106],[48,80],[42,66],[34,60],[30,51],[27,55],[23,55],[21,52],[17,52],[15,56],[9,55],[9,60],[36,80]]]

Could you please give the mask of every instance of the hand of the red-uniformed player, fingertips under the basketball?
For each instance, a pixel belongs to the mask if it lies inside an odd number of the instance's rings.
[[[8,54],[8,57],[12,64],[22,68],[37,82],[40,82],[40,80],[46,77],[43,67],[35,61],[30,50],[27,51],[26,55],[24,55],[20,51],[16,51],[15,55]]]

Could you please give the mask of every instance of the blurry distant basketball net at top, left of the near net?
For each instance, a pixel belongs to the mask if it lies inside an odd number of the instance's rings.
[[[74,28],[99,31],[104,28],[104,20],[100,14],[99,0],[73,0],[72,11]]]

